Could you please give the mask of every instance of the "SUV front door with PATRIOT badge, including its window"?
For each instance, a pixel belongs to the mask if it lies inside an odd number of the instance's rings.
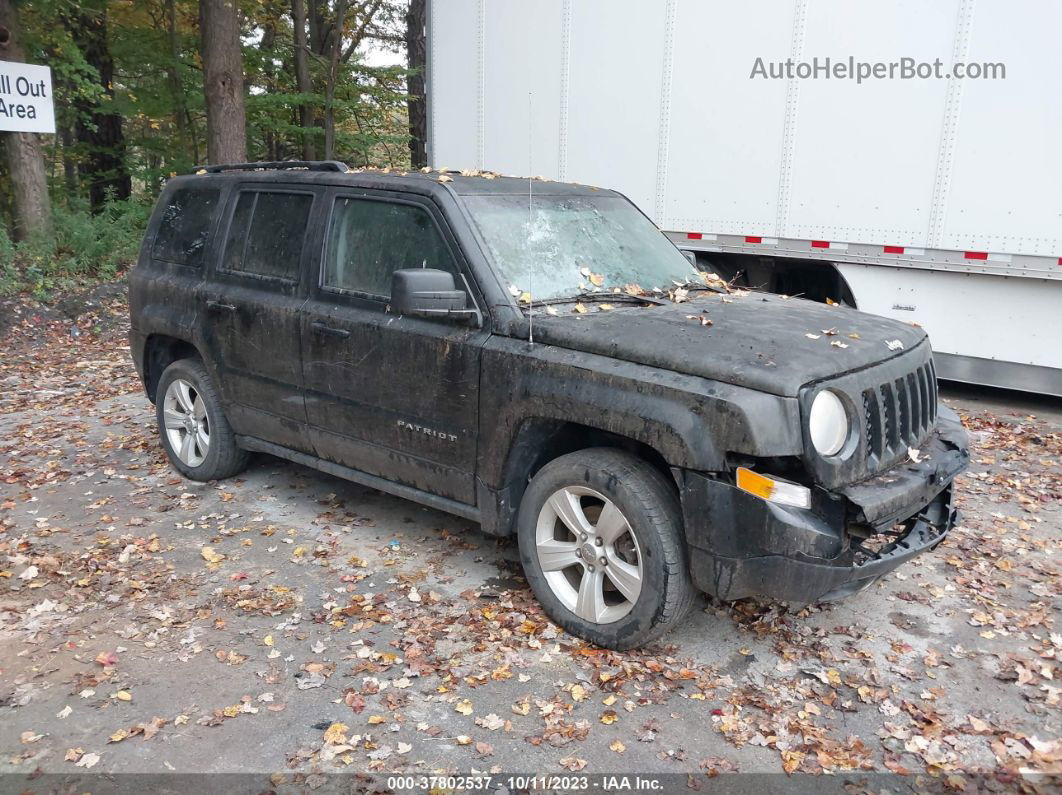
[[[475,504],[484,329],[387,311],[391,274],[434,267],[469,289],[427,200],[373,191],[331,200],[320,283],[303,321],[303,373],[319,456]]]

